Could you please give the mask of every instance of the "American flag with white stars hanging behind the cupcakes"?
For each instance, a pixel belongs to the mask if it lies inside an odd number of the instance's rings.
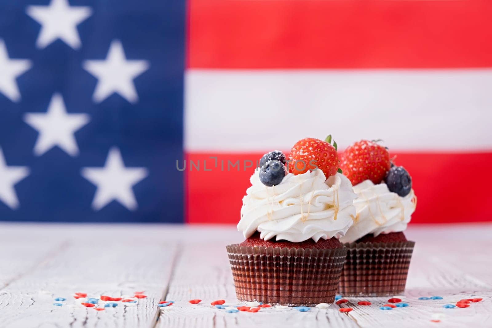
[[[231,223],[253,163],[382,139],[412,223],[491,221],[492,3],[3,0],[0,220]]]

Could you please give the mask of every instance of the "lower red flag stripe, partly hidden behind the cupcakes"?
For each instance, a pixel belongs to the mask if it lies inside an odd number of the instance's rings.
[[[189,223],[233,223],[240,218],[242,198],[250,186],[251,168],[227,171],[227,161],[232,163],[245,159],[256,161],[262,153],[210,154],[189,153],[187,160],[196,164],[200,160],[200,171],[189,162],[187,175],[187,222]],[[218,167],[209,156],[218,157]],[[393,156],[393,153],[392,153]],[[203,161],[207,170],[203,171]],[[224,171],[220,162],[224,161]],[[396,163],[403,165],[413,179],[418,197],[413,223],[449,223],[492,221],[492,152],[489,153],[397,153]],[[183,163],[180,163],[182,166]]]

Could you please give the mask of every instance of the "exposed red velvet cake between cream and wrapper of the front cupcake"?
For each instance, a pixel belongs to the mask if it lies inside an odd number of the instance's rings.
[[[239,246],[263,246],[263,247],[287,247],[287,248],[317,248],[317,249],[331,249],[342,248],[342,243],[334,238],[331,239],[319,239],[318,242],[314,242],[312,239],[307,239],[301,242],[291,242],[287,240],[276,241],[274,239],[263,240],[260,239],[260,233],[256,232],[253,236],[249,237],[245,241],[239,244]]]

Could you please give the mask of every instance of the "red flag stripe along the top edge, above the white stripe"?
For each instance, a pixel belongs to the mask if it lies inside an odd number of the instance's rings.
[[[491,17],[480,0],[190,0],[188,67],[491,67]]]

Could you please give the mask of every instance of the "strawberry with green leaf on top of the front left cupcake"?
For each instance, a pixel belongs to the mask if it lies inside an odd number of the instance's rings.
[[[289,154],[289,172],[298,175],[319,168],[328,179],[339,171],[337,143],[329,135],[326,141],[304,138],[295,143]]]

